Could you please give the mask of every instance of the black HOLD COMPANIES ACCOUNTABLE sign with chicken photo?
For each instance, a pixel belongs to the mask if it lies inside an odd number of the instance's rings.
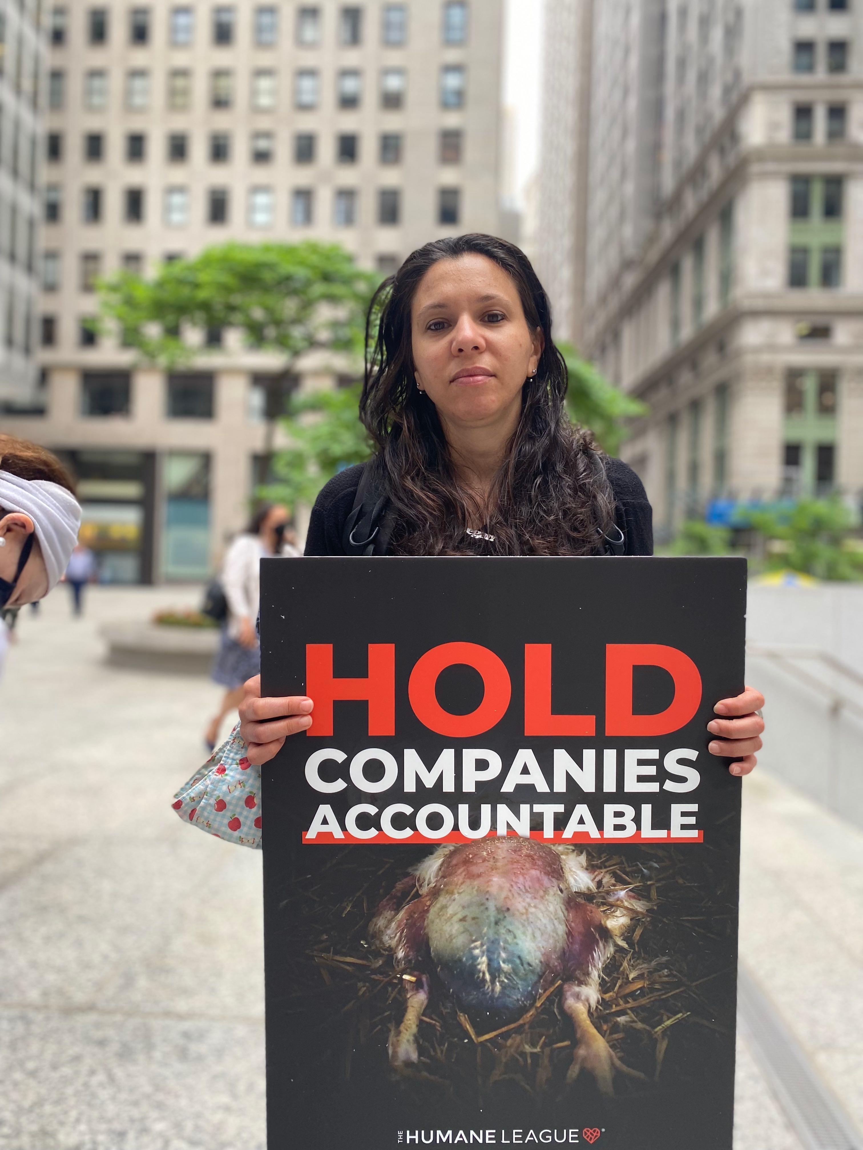
[[[315,706],[262,780],[270,1150],[731,1150],[744,562],[276,574],[262,689]]]

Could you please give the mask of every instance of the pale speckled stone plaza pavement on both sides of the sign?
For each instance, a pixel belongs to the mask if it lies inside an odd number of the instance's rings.
[[[113,668],[98,634],[198,597],[98,588],[72,619],[61,588],[22,615],[0,682],[0,1150],[265,1147],[261,856],[169,805],[219,689]],[[766,770],[744,783],[741,954],[863,1130],[863,834]],[[735,1150],[801,1150],[739,1051]]]

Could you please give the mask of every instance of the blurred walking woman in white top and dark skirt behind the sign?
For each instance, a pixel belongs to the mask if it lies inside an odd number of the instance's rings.
[[[246,530],[231,543],[224,557],[221,584],[228,601],[228,619],[222,628],[222,641],[211,677],[227,690],[219,713],[211,720],[204,736],[211,751],[222,720],[229,712],[236,711],[243,699],[243,683],[260,672],[261,649],[255,629],[260,561],[273,555],[300,554],[285,538],[288,526],[287,507],[265,504],[252,516]]]

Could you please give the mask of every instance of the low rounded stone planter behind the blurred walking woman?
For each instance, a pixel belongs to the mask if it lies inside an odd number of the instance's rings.
[[[138,622],[106,623],[101,628],[112,666],[185,675],[208,674],[220,634],[214,628]]]

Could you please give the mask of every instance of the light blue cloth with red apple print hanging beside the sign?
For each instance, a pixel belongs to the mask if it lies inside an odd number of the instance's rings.
[[[239,723],[174,796],[174,810],[193,827],[240,846],[261,846],[261,773],[246,758]]]

